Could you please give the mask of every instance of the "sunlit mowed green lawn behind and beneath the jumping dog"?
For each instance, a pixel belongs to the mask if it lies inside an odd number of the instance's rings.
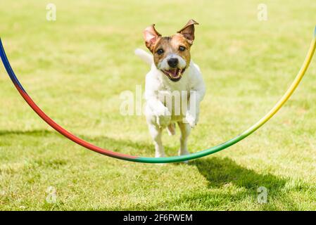
[[[1,1],[8,58],[34,101],[97,146],[153,156],[144,116],[120,115],[120,93],[144,89],[134,56],[156,23],[173,34],[194,18],[192,58],[207,86],[189,138],[196,152],[239,134],[270,110],[298,72],[316,25],[316,1]],[[241,143],[189,165],[98,155],[34,114],[0,66],[1,210],[316,210],[316,66],[284,108]],[[169,156],[179,148],[166,133]],[[46,201],[56,188],[56,203]],[[267,203],[257,189],[267,188]]]

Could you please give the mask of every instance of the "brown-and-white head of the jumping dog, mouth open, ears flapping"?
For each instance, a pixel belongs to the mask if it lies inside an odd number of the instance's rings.
[[[156,67],[173,82],[179,81],[189,67],[190,49],[194,41],[194,25],[197,24],[196,21],[189,20],[182,30],[171,37],[162,37],[156,31],[155,25],[144,30],[145,43],[153,53]]]

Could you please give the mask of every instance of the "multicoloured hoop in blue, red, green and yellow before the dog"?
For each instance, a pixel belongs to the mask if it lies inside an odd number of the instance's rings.
[[[139,156],[133,156],[133,155],[125,155],[122,153],[115,153],[111,150],[107,150],[104,148],[99,148],[98,146],[94,146],[93,144],[84,141],[80,139],[79,137],[71,134],[69,131],[63,129],[60,125],[58,125],[56,122],[51,120],[49,116],[47,116],[35,103],[32,101],[32,98],[27,94],[23,86],[20,84],[18,78],[15,76],[15,73],[13,72],[13,69],[11,68],[11,65],[8,61],[8,58],[6,57],[6,52],[4,51],[4,46],[2,44],[2,41],[0,39],[0,56],[2,59],[2,62],[4,63],[4,67],[6,68],[6,71],[8,72],[9,77],[11,78],[13,84],[15,85],[15,88],[18,89],[18,92],[20,95],[25,99],[25,101],[30,105],[30,107],[39,115],[39,117],[42,118],[47,124],[49,124],[53,129],[56,129],[59,133],[63,134],[66,138],[70,139],[71,141],[74,141],[75,143],[79,144],[80,146],[83,146],[84,148],[87,148],[89,150],[93,150],[96,153],[100,153],[103,155],[107,155],[112,158],[117,158],[120,160],[127,160],[132,162],[146,162],[146,163],[169,163],[169,162],[182,162],[186,160],[194,160],[196,158],[202,158],[206,155],[211,155],[213,153],[217,153],[220,150],[224,150],[225,148],[228,148],[229,146],[234,145],[235,143],[245,139],[247,136],[253,134],[254,131],[259,129],[263,126],[268,120],[271,119],[271,117],[279,111],[280,108],[282,108],[282,105],[286,103],[286,101],[290,98],[290,96],[293,94],[295,89],[297,88],[298,84],[301,82],[303,76],[305,75],[306,70],[308,69],[308,66],[310,65],[310,61],[312,60],[312,56],[314,55],[316,48],[316,27],[315,27],[315,33],[314,38],[312,39],[312,43],[310,44],[310,49],[308,51],[308,55],[305,58],[305,61],[302,65],[301,70],[298,72],[298,75],[294,79],[293,83],[289,87],[289,89],[286,91],[284,96],[274,105],[274,107],[258,122],[253,124],[253,126],[246,129],[246,131],[242,132],[238,136],[234,137],[233,139],[230,139],[229,141],[226,141],[225,143],[221,143],[218,146],[214,146],[212,148],[208,148],[206,150],[201,150],[198,153],[192,153],[190,155],[181,155],[181,156],[174,156],[174,157],[167,157],[167,158],[146,158],[146,157],[139,157]]]

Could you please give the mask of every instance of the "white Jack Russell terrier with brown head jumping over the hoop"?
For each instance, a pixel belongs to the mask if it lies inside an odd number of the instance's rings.
[[[175,134],[175,123],[181,131],[179,155],[188,155],[187,139],[198,122],[200,103],[206,93],[200,68],[191,60],[194,25],[189,20],[179,32],[162,37],[155,25],[144,30],[150,53],[137,49],[136,55],[151,65],[146,75],[145,115],[158,157],[165,157],[161,135],[167,128]]]

